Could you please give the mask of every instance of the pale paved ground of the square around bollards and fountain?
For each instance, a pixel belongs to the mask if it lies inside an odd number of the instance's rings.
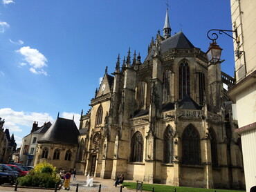
[[[79,184],[78,191],[88,191],[88,192],[98,192],[99,191],[99,186],[101,184],[101,192],[118,192],[120,191],[120,185],[115,187],[113,184],[115,183],[113,180],[104,180],[99,177],[93,177],[93,186],[85,186],[86,185],[86,176],[84,175],[76,175],[77,180],[73,180],[73,177],[71,178],[71,184],[70,184],[70,190],[69,191],[76,191],[77,183]],[[6,191],[14,191],[14,186],[12,187],[7,187],[7,186],[0,186],[0,191],[1,192],[6,192]],[[19,192],[51,192],[55,190],[50,190],[50,189],[26,189],[26,188],[19,188],[17,189]],[[60,191],[67,191],[65,189],[61,189]],[[132,189],[126,189],[123,188],[122,192],[132,192],[136,190]]]

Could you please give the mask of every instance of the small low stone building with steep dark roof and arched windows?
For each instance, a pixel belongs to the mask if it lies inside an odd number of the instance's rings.
[[[46,161],[57,169],[73,169],[79,134],[74,119],[64,119],[58,114],[56,121],[37,141],[34,166]]]

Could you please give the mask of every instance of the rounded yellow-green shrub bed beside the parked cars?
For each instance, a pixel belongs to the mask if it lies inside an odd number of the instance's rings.
[[[19,185],[53,188],[56,182],[60,184],[60,177],[56,175],[55,170],[52,164],[46,162],[38,164],[28,175],[19,177]]]

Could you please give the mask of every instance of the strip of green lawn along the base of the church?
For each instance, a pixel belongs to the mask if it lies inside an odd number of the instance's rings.
[[[135,182],[124,182],[123,186],[126,186],[129,189],[136,189]],[[192,188],[185,186],[169,186],[161,184],[143,184],[143,191],[152,191],[154,187],[154,192],[173,192],[176,188],[176,192],[245,192],[237,190],[224,190],[224,189],[202,189],[202,188]]]

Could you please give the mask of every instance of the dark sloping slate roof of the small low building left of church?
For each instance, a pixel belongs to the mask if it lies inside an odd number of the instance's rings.
[[[78,135],[79,131],[73,120],[57,117],[38,142],[77,145]]]

